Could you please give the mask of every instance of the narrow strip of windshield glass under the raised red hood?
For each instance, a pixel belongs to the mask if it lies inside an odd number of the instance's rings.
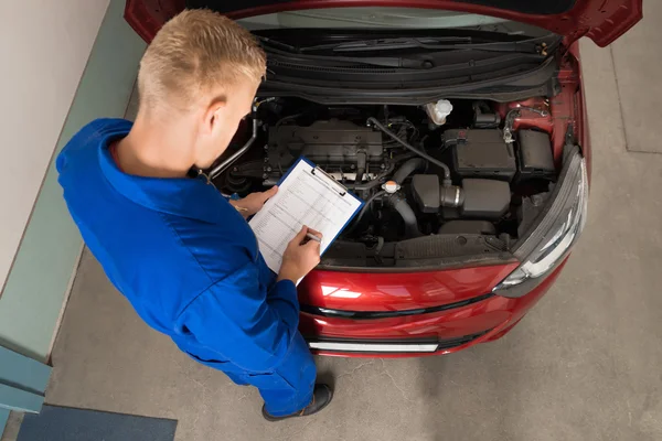
[[[388,29],[499,32],[509,35],[542,36],[549,31],[495,17],[420,8],[330,8],[249,17],[238,22],[250,31],[275,29]]]

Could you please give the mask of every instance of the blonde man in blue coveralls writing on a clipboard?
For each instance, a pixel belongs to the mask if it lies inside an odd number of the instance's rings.
[[[295,281],[319,262],[319,243],[305,241],[319,233],[305,227],[274,275],[243,216],[277,189],[227,201],[203,175],[188,178],[227,148],[265,69],[246,30],[184,11],[142,57],[136,122],[90,122],[57,170],[87,246],[136,312],[195,361],[257,387],[264,417],[277,421],[316,413],[332,398],[314,384],[297,330]]]

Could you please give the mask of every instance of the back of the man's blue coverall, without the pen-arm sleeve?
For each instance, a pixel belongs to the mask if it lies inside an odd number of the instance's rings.
[[[86,126],[57,158],[60,183],[115,287],[150,326],[202,356],[206,351],[196,347],[195,335],[181,327],[192,302],[246,266],[257,267],[261,284],[273,283],[273,276],[246,222],[205,180],[132,176],[118,169],[109,146],[130,128],[119,119]]]

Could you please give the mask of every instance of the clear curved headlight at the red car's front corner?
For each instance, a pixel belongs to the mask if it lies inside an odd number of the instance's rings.
[[[551,197],[533,232],[513,249],[522,263],[494,287],[493,293],[509,298],[528,293],[564,260],[577,241],[588,206],[586,160],[578,148],[567,152]]]

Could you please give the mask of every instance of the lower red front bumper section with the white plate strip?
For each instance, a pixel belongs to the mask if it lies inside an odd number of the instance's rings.
[[[303,306],[299,329],[311,351],[319,355],[413,357],[448,354],[508,333],[547,292],[564,266],[565,261],[528,294],[517,299],[481,293],[473,297],[479,301],[457,308],[386,318],[365,314],[343,318],[337,316],[332,309],[319,311]]]

